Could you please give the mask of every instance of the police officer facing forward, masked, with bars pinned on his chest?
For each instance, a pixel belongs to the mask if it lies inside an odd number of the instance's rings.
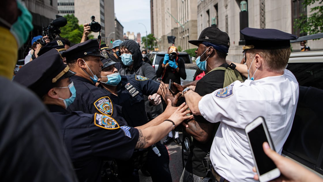
[[[107,90],[113,102],[122,107],[122,113],[125,114],[129,126],[136,127],[145,124],[147,115],[145,113],[144,95],[151,97],[155,93],[161,94],[160,83],[136,74],[120,76],[115,67],[116,62],[109,59],[104,59],[102,62],[99,87]],[[154,102],[154,100],[151,100],[151,102]],[[159,100],[157,99],[154,104],[160,103],[159,97]],[[147,171],[151,174],[154,182],[172,181],[168,165],[168,151],[160,141],[156,143],[156,146],[161,156],[155,154],[151,147],[148,148],[148,159],[145,164]]]

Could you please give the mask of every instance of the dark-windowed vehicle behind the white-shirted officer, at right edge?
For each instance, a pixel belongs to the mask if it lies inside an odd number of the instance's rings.
[[[323,38],[314,35],[291,42]],[[323,177],[323,50],[293,52],[287,69],[299,84],[299,98],[291,132],[284,144],[282,155],[293,159]],[[182,163],[187,161],[192,137],[183,132]]]

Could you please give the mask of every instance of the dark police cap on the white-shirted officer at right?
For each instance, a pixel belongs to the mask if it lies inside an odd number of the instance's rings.
[[[244,28],[240,30],[244,35],[245,46],[247,49],[285,49],[290,47],[290,40],[295,40],[296,35],[286,33],[277,29]]]

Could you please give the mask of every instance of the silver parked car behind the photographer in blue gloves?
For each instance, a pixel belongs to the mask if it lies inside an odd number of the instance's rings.
[[[164,60],[164,56],[167,54],[167,51],[153,51],[149,55],[149,60],[152,63],[152,67],[157,71],[159,62]],[[184,60],[184,63],[192,63],[191,57],[187,52],[178,52],[178,57]]]

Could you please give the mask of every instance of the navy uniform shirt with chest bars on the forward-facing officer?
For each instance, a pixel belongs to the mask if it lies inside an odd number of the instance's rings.
[[[114,103],[122,107],[122,113],[129,126],[137,127],[147,123],[144,95],[156,93],[160,83],[144,76],[131,74],[121,75],[121,81],[117,85],[118,96],[105,90]]]

